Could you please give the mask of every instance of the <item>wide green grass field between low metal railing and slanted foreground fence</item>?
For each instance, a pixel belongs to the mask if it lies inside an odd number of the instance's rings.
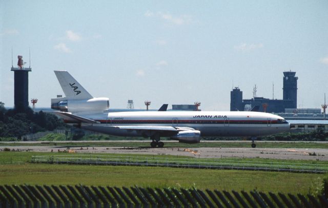
[[[66,154],[69,155],[69,153]],[[276,193],[307,194],[314,193],[319,189],[322,178],[325,177],[323,174],[285,172],[31,164],[29,161],[32,155],[56,154],[50,152],[0,152],[0,184],[82,183],[85,185],[108,185],[117,187],[196,187],[199,189],[229,191],[250,191],[257,189],[263,192],[271,191]],[[170,158],[168,155],[158,155],[156,157]],[[171,157],[173,158],[176,156]],[[188,157],[181,157],[181,159],[188,159]],[[302,162],[324,163],[321,161],[306,160]]]

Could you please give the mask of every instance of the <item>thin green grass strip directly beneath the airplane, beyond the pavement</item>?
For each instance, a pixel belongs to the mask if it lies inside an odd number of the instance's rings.
[[[150,147],[150,142],[44,142],[44,143],[2,143],[1,146],[54,146],[54,147]],[[164,141],[165,142],[165,141]],[[250,148],[249,142],[201,142],[199,144],[183,144],[178,142],[165,142],[165,147],[223,147],[223,148]],[[257,148],[320,148],[328,149],[328,143],[315,142],[256,142]]]

